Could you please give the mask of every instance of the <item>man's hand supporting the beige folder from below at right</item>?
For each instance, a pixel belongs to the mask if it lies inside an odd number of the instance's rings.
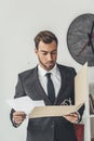
[[[66,118],[67,120],[69,120],[70,123],[77,123],[79,119],[78,113],[71,113],[71,114],[65,115],[63,117]]]

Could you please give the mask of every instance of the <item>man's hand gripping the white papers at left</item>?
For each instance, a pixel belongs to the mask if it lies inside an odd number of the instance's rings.
[[[14,112],[13,113],[13,121],[17,125],[22,124],[26,118],[26,114],[24,112]]]

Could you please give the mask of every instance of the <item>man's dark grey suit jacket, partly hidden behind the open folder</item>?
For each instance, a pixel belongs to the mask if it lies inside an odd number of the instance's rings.
[[[75,104],[75,76],[76,72],[72,67],[57,64],[62,86],[54,105],[61,105],[65,99],[71,99]],[[33,101],[43,100],[45,105],[51,105],[38,77],[38,67],[26,70],[18,75],[18,82],[14,98],[28,95]],[[79,110],[82,117],[84,105]],[[14,110],[11,111],[11,120]],[[12,121],[13,123],[13,121]],[[16,127],[16,125],[13,123]],[[41,117],[29,119],[27,126],[27,141],[77,141],[73,124],[63,117]]]

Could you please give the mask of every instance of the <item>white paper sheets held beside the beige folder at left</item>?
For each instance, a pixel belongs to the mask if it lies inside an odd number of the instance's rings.
[[[6,100],[6,103],[15,111],[25,112],[27,115],[35,106],[44,106],[43,101],[32,101],[29,97],[22,97],[13,100]]]

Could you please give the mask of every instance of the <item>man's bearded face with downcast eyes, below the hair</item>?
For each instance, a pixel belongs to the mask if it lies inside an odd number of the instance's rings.
[[[50,70],[54,67],[57,59],[57,46],[55,41],[51,43],[40,41],[38,50],[35,49],[35,52],[42,68]]]

